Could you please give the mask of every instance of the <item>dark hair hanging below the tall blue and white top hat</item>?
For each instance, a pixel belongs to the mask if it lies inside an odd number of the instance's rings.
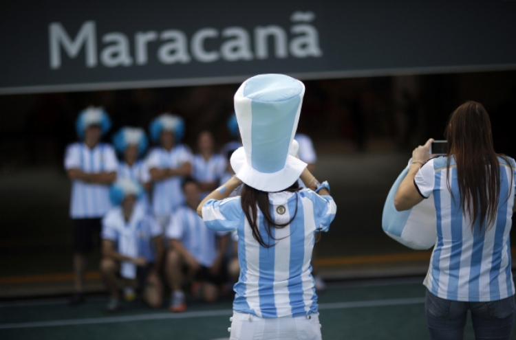
[[[241,199],[240,203],[242,206],[242,209],[244,210],[244,214],[246,214],[246,218],[249,222],[249,225],[252,229],[252,237],[255,238],[255,240],[258,241],[258,243],[262,247],[270,248],[274,247],[276,245],[276,242],[272,245],[267,244],[264,241],[264,238],[260,234],[260,228],[259,224],[257,223],[258,219],[258,210],[260,209],[261,214],[264,216],[264,224],[265,224],[265,230],[267,232],[267,235],[269,238],[272,238],[272,240],[278,240],[272,236],[271,229],[272,228],[284,228],[287,225],[290,225],[292,223],[292,220],[296,218],[297,215],[297,202],[298,202],[298,195],[297,191],[300,190],[299,184],[297,181],[294,182],[294,184],[290,185],[289,188],[286,190],[286,192],[295,192],[296,194],[296,210],[294,212],[294,216],[290,218],[290,220],[287,223],[278,224],[275,223],[274,218],[270,215],[270,202],[269,202],[269,192],[257,190],[255,188],[250,187],[249,185],[246,185],[244,183],[242,185],[242,191],[241,191]]]

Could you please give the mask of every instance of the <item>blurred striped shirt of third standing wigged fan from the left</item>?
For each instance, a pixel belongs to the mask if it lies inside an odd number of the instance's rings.
[[[170,151],[164,148],[155,148],[147,157],[147,166],[152,168],[180,168],[184,163],[192,163],[190,149],[183,144],[175,146]],[[181,176],[169,177],[162,181],[155,181],[152,192],[152,206],[154,214],[169,215],[175,207],[182,205],[184,195],[181,189]]]

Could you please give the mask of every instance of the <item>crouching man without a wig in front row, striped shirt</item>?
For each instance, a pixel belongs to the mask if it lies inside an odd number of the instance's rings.
[[[191,178],[186,178],[182,189],[186,205],[178,207],[166,229],[170,240],[170,250],[166,256],[166,276],[172,288],[172,312],[186,309],[184,293],[181,289],[184,271],[189,280],[200,282],[200,293],[206,302],[215,302],[218,285],[222,283],[222,262],[228,245],[227,233],[206,228],[197,215],[200,203],[200,186]],[[218,246],[217,246],[218,236]]]

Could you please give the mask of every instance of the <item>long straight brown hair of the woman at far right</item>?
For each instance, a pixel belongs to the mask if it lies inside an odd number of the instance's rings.
[[[451,114],[444,135],[448,141],[447,171],[449,174],[450,156],[453,156],[464,216],[469,216],[472,230],[477,220],[481,226],[485,221],[487,230],[495,223],[499,203],[500,167],[497,157],[504,159],[509,166],[510,162],[506,156],[495,153],[491,121],[484,106],[477,102],[459,106]],[[512,181],[511,171],[509,183]],[[450,181],[447,185],[453,197]]]

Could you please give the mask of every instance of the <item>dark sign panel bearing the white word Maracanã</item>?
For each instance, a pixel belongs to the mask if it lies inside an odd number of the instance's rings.
[[[3,1],[0,94],[516,69],[516,1]]]

